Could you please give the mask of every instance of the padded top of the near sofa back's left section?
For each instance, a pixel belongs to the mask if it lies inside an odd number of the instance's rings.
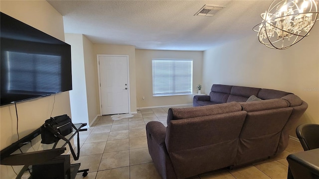
[[[236,112],[241,110],[241,105],[238,102],[227,102],[221,104],[186,108],[169,108],[167,114],[167,124],[170,120],[175,119],[186,119],[228,112]]]

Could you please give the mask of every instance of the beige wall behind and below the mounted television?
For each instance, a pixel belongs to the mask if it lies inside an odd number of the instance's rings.
[[[63,17],[45,0],[1,0],[0,11],[64,41]],[[40,127],[50,117],[52,108],[52,116],[71,116],[69,92],[56,94],[55,99],[51,95],[18,102],[19,137]],[[0,148],[3,149],[17,140],[14,105],[1,106],[0,118]],[[16,177],[10,166],[1,165],[0,170],[1,179]]]

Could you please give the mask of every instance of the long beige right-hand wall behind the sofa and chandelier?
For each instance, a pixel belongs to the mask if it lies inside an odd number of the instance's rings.
[[[262,45],[252,31],[205,51],[203,84],[205,91],[212,84],[226,84],[293,92],[309,104],[298,124],[319,123],[319,24],[286,50]],[[290,134],[296,136],[295,129]]]

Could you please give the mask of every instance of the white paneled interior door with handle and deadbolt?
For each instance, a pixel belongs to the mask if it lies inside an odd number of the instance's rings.
[[[102,115],[129,113],[128,56],[98,55]]]

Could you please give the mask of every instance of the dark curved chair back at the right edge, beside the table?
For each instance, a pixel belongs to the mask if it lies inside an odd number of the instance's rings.
[[[319,124],[301,124],[296,134],[304,151],[319,148]]]

